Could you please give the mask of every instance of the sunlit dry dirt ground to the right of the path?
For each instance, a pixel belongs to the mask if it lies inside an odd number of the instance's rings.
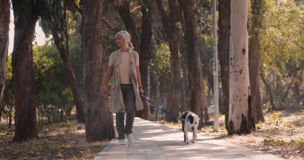
[[[199,134],[225,139],[285,159],[304,159],[304,107],[269,112],[264,110],[264,117],[265,122],[256,123],[256,129],[251,134],[227,135],[224,115],[219,117],[222,131],[212,132],[213,125],[205,125]],[[212,123],[212,116],[210,121]],[[181,128],[180,123],[163,120],[156,122],[172,128]]]

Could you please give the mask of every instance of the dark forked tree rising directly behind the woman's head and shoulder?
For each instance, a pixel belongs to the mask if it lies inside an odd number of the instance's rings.
[[[141,84],[147,88],[147,66],[151,59],[150,43],[152,36],[152,2],[153,0],[138,0],[141,5],[142,23],[140,43],[136,34],[136,25],[130,14],[130,1],[118,0],[118,13],[124,23],[126,30],[131,35],[131,42],[134,45],[134,50],[139,53],[139,71],[141,75]],[[149,119],[148,107],[143,102],[143,110],[136,111],[135,116],[140,118]]]

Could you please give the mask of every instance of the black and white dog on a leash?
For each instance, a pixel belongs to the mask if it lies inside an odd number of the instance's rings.
[[[186,111],[181,115],[181,119],[184,119],[181,121],[184,139],[183,142],[189,144],[188,131],[192,131],[193,136],[191,142],[194,143],[195,139],[197,138],[197,126],[200,116],[191,111]]]

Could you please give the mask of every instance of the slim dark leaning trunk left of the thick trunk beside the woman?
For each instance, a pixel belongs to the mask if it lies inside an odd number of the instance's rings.
[[[77,121],[78,122],[85,122],[85,116],[84,116],[84,108],[83,108],[83,101],[81,98],[80,91],[77,87],[77,81],[75,78],[75,74],[69,59],[69,55],[67,54],[67,49],[63,45],[63,39],[59,37],[57,33],[52,33],[54,43],[60,53],[60,57],[63,61],[64,70],[67,73],[67,82],[69,84],[69,87],[71,88],[72,94],[73,94],[73,101],[76,105],[76,111],[77,111]]]

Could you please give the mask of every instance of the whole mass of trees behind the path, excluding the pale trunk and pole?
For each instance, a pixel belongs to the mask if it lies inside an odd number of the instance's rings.
[[[10,6],[14,49],[8,54]],[[36,137],[36,119],[51,123],[76,113],[86,138],[114,135],[107,99],[100,93],[107,60],[125,29],[139,53],[150,99],[178,116],[191,110],[209,122],[213,104],[212,15],[209,0],[1,0],[0,113],[14,119],[15,140]],[[262,108],[302,105],[304,28],[301,0],[248,1],[248,62],[255,122]],[[46,36],[32,46],[36,21]],[[219,111],[229,113],[230,0],[218,0]],[[7,60],[6,60],[7,59]],[[148,76],[148,66],[150,75]],[[157,111],[145,105],[136,116]],[[36,118],[37,117],[37,118]],[[175,121],[165,116],[166,121]],[[11,121],[11,120],[9,120]],[[201,127],[201,125],[199,125]],[[97,128],[97,129],[96,129]],[[100,136],[102,135],[102,136]]]

